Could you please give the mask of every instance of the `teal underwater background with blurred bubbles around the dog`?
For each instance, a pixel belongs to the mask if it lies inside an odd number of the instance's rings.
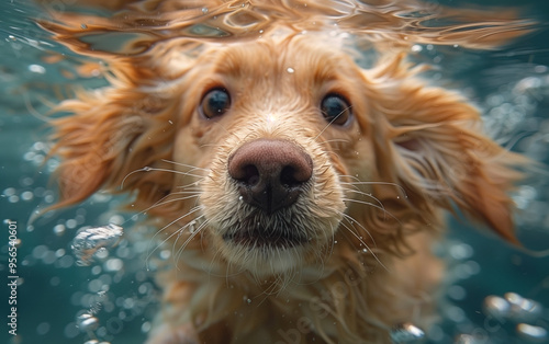
[[[502,145],[549,164],[549,2],[429,2],[520,5],[526,18],[538,21],[535,32],[500,49],[417,44],[413,53],[437,66],[433,79],[483,110],[486,130]],[[75,89],[105,84],[35,24],[41,14],[31,1],[0,2],[0,343],[142,343],[159,298],[152,278],[157,267],[148,263],[152,255],[169,260],[170,250],[152,253],[154,244],[138,240],[137,228],[93,263],[78,264],[71,250],[78,229],[107,223],[126,229],[143,219],[116,210],[123,196],[98,193],[77,207],[33,216],[57,197],[51,176],[58,162],[46,159],[48,111]],[[542,165],[525,181],[514,199],[519,240],[528,250],[547,251],[548,169]],[[16,243],[11,266],[10,241]],[[451,219],[448,240],[437,250],[448,259],[448,282],[442,319],[424,342],[549,343],[547,254],[525,253],[463,219]],[[13,319],[16,336],[10,333]]]

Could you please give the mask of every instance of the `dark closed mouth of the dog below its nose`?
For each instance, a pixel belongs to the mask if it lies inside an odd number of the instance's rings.
[[[223,234],[225,242],[248,249],[284,250],[304,245],[307,240],[303,234],[295,233],[294,228],[246,227]]]

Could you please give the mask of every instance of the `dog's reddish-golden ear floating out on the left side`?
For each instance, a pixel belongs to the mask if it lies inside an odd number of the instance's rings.
[[[169,190],[169,175],[143,173],[170,158],[168,103],[116,88],[82,92],[61,103],[57,110],[71,115],[53,121],[51,154],[60,158],[56,171],[60,199],[55,208],[77,204],[101,187],[138,191],[139,197]]]

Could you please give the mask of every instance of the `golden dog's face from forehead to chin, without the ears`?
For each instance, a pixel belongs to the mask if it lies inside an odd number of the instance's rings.
[[[197,66],[173,160],[208,171],[200,204],[215,250],[256,274],[322,261],[347,208],[343,183],[372,169],[368,121],[355,115],[368,113],[360,69],[306,37],[212,49]]]

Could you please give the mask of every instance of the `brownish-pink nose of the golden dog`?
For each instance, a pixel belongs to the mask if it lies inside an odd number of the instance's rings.
[[[258,139],[244,144],[228,159],[242,199],[271,214],[292,205],[313,175],[313,160],[288,140]]]

